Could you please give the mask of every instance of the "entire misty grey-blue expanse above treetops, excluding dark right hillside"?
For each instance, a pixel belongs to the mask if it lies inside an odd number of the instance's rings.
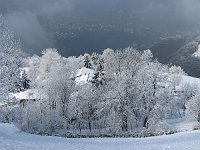
[[[199,10],[199,0],[0,0],[0,13],[31,54],[144,48],[162,34],[198,29]]]

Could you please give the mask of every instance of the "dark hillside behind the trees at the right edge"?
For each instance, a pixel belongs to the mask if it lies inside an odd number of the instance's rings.
[[[196,57],[199,42],[199,37],[174,37],[165,39],[150,49],[159,62],[181,66],[188,75],[200,77],[200,57]]]

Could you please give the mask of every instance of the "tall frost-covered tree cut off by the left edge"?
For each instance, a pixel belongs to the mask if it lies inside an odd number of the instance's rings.
[[[0,96],[6,99],[7,94],[14,92],[20,80],[22,51],[19,40],[9,29],[5,18],[0,15]]]

